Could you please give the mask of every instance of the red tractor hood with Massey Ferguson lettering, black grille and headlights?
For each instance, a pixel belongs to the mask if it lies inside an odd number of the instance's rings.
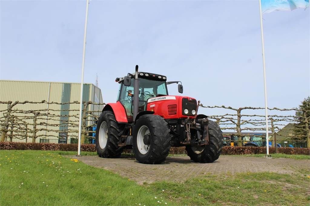
[[[168,95],[149,98],[146,110],[154,111],[165,119],[175,119],[194,118],[196,108],[197,101],[192,97]]]

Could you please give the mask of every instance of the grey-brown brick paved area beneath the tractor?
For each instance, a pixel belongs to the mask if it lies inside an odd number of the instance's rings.
[[[88,165],[111,170],[123,177],[135,180],[138,184],[154,181],[181,182],[188,178],[203,174],[232,174],[238,172],[277,172],[292,174],[300,169],[309,170],[309,160],[288,158],[266,159],[263,157],[238,157],[221,155],[213,163],[195,163],[187,156],[167,157],[160,165],[145,165],[137,162],[134,157],[105,159],[98,156],[70,156]]]

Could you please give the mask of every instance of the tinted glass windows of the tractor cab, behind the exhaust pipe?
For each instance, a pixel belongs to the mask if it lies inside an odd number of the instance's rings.
[[[132,95],[135,95],[134,79],[131,79],[130,86],[125,86],[124,84],[120,85],[118,97],[118,101],[120,101],[126,109],[127,119],[129,120],[132,119],[133,116],[133,96],[128,95],[128,91],[130,91]],[[162,95],[168,95],[166,81],[139,78],[139,112],[146,110],[146,102],[149,98]]]

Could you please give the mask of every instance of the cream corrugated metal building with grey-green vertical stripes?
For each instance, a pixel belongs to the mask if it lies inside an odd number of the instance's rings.
[[[0,101],[35,101],[39,102],[45,100],[47,102],[73,102],[80,101],[81,84],[79,83],[64,83],[64,82],[40,82],[40,81],[13,81],[13,80],[0,80]],[[100,88],[93,84],[84,84],[83,86],[83,101],[92,101],[95,103],[103,103],[102,93]],[[6,104],[0,104],[0,110],[7,109]],[[76,115],[78,114],[79,104],[18,104],[13,109],[20,110],[38,110],[48,109],[49,113],[61,116]],[[66,110],[76,111],[66,111]],[[103,109],[103,105],[89,105],[88,110],[100,111]],[[63,110],[63,111],[53,111]],[[29,114],[31,116],[33,114]],[[98,115],[98,114],[97,114]],[[55,117],[55,120],[46,120],[47,124],[61,124],[66,120],[78,120],[78,117]],[[87,124],[93,123],[88,121]],[[42,128],[39,126],[37,128]],[[47,129],[55,130],[55,127],[45,126]],[[44,127],[44,128],[45,128]],[[70,130],[73,129],[68,124],[62,124],[58,130]],[[76,127],[74,128],[76,129]],[[44,135],[42,138],[57,139],[62,136],[61,132],[53,131],[39,131],[37,135]],[[77,133],[67,134],[77,135]],[[39,142],[40,138],[37,138],[36,142]]]

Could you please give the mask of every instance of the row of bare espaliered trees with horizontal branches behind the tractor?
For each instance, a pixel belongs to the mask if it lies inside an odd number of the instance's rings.
[[[83,102],[82,142],[94,143],[96,120],[105,103]],[[262,107],[205,106],[200,113],[215,121],[224,132],[225,144],[265,144],[265,115]],[[202,112],[201,112],[202,111]],[[310,147],[308,116],[297,108],[268,108],[270,146]],[[0,101],[1,141],[77,143],[79,102]],[[299,123],[299,124],[297,124]],[[299,125],[302,125],[300,127]],[[256,139],[255,139],[256,138]],[[307,145],[308,141],[308,145]],[[277,143],[276,143],[277,142]]]

